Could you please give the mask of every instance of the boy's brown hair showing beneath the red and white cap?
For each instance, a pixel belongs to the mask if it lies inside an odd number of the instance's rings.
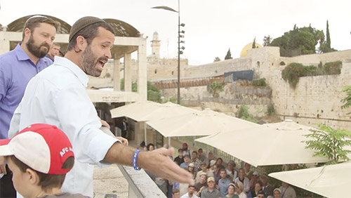
[[[35,171],[34,169],[27,166],[27,164],[20,161],[20,159],[17,159],[17,157],[15,157],[14,155],[11,155],[8,157],[11,158],[13,163],[16,166],[18,166],[18,169],[20,169],[20,171],[22,173],[25,173],[27,171],[27,169],[31,169],[32,171]],[[33,160],[35,160],[35,159],[33,159]],[[62,169],[72,169],[73,165],[74,165],[74,157],[68,157],[66,159],[65,163],[63,163],[63,165],[62,165]],[[50,190],[53,187],[61,188],[63,181],[65,181],[65,177],[66,177],[66,174],[54,175],[54,174],[41,173],[39,171],[35,171],[35,172],[39,176],[38,185],[41,186],[41,190],[43,190],[44,192],[50,192]]]

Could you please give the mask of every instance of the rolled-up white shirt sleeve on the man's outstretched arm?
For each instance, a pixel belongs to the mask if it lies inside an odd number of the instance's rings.
[[[100,130],[100,119],[84,86],[73,84],[58,91],[54,105],[62,131],[72,142],[76,159],[101,166],[110,147],[119,140]]]

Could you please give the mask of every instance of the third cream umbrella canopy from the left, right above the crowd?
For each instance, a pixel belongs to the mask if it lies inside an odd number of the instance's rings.
[[[277,124],[264,124],[244,128],[195,141],[216,147],[253,166],[277,164],[308,164],[328,161],[313,157],[314,152],[305,149],[305,134],[311,127],[286,120]]]

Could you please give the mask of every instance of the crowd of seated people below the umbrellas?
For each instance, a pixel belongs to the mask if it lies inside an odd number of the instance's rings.
[[[154,145],[145,146],[145,150],[150,148],[153,150]],[[253,171],[250,164],[244,163],[243,168],[237,169],[234,161],[224,163],[211,151],[206,156],[201,148],[191,151],[187,143],[178,149],[178,156],[173,161],[191,173],[194,185],[165,180],[147,172],[169,198],[296,198],[296,192],[289,184],[283,182],[281,187],[273,189],[267,176]]]

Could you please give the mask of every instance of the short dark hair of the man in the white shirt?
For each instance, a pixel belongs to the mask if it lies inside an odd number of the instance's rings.
[[[98,37],[99,27],[103,27],[104,29],[114,34],[114,29],[111,27],[111,25],[108,25],[107,22],[95,22],[91,25],[84,27],[83,29],[79,30],[76,34],[74,34],[74,36],[68,43],[67,51],[72,50],[72,48],[76,46],[77,37],[79,36],[84,37],[88,45],[90,45],[91,41],[93,41],[95,37]]]

